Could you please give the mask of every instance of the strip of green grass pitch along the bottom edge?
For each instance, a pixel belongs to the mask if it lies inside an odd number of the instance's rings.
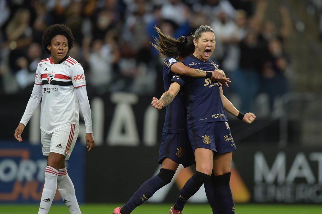
[[[111,214],[121,204],[81,205],[83,214]],[[168,214],[171,204],[143,204],[133,214]],[[0,214],[35,214],[38,205],[0,205]],[[68,214],[64,205],[52,205],[49,214]],[[209,205],[187,204],[183,214],[211,214]],[[322,213],[322,205],[252,205],[237,204],[236,214],[312,214]]]

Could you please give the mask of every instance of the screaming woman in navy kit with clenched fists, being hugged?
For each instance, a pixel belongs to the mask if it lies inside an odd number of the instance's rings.
[[[215,33],[207,25],[201,25],[194,33],[194,53],[183,64],[194,69],[211,71],[219,66],[209,59],[215,48]],[[181,88],[187,111],[187,130],[194,151],[196,174],[182,188],[170,214],[181,214],[185,202],[198,191],[213,173],[213,192],[216,213],[235,213],[230,181],[232,151],[236,150],[225,110],[246,123],[252,123],[255,115],[242,114],[223,95],[217,81],[209,78],[175,76],[169,90],[154,106],[164,107],[171,103]]]

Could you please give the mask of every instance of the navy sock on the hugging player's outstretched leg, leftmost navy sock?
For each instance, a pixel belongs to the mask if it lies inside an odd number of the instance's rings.
[[[175,172],[172,170],[160,169],[159,174],[150,178],[138,188],[137,192],[120,210],[121,214],[129,214],[137,206],[145,203],[158,189],[170,183],[174,174]]]

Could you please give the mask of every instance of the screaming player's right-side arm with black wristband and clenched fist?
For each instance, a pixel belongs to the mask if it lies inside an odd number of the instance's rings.
[[[223,95],[223,88],[219,87],[220,90],[220,97],[223,101],[223,107],[226,111],[237,117],[238,119],[244,121],[245,123],[252,123],[255,120],[255,114],[249,112],[246,114],[242,114],[240,111],[238,111],[235,106],[228,100],[227,97]]]

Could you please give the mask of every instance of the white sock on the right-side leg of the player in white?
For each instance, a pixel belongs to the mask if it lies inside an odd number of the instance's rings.
[[[71,214],[81,214],[80,207],[78,206],[74,184],[71,178],[67,174],[66,167],[59,169],[58,178],[58,191],[62,196],[62,200],[65,205],[68,206],[68,210]]]

